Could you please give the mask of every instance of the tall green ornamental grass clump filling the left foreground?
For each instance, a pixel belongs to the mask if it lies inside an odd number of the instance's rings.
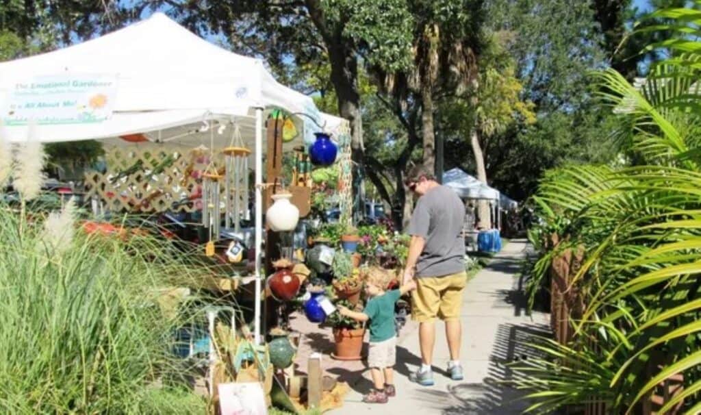
[[[158,290],[189,278],[189,264],[147,237],[77,231],[52,245],[33,220],[0,206],[3,412],[203,413],[188,390],[156,386],[177,367],[181,324],[161,311]]]

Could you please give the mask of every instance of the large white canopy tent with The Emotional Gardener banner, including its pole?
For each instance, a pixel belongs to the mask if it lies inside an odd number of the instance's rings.
[[[320,114],[310,97],[280,85],[261,60],[200,39],[162,13],[75,46],[0,63],[0,134],[5,140],[23,142],[31,134],[40,142],[92,139],[137,145],[120,137],[142,134],[153,143],[196,147],[210,143],[214,123],[236,123],[245,144],[254,148],[257,206],[262,206],[264,111],[272,107],[308,116],[297,120],[306,142],[319,130],[315,124],[337,126],[341,121]],[[259,208],[257,293],[262,229]],[[257,342],[260,315],[256,301]]]

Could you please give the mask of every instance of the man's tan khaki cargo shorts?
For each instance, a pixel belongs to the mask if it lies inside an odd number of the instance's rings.
[[[416,278],[411,292],[411,318],[418,322],[458,320],[463,304],[463,289],[468,282],[465,271],[442,277]]]

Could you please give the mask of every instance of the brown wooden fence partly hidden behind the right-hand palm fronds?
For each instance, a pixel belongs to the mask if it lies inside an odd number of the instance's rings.
[[[556,235],[551,236],[548,241],[552,249],[555,249],[559,244],[559,239]],[[576,274],[582,265],[584,259],[584,250],[579,249],[573,252],[571,249],[563,250],[556,258],[553,259],[550,266],[550,326],[554,334],[554,338],[561,344],[569,343],[573,337],[572,321],[578,320],[583,315],[585,302],[583,295],[577,290],[576,286],[571,286],[571,276]],[[590,347],[597,346],[590,343]],[[660,356],[661,360],[662,356]],[[645,368],[648,377],[654,376],[653,369],[658,366],[658,359],[651,359],[648,367]],[[671,397],[683,390],[683,376],[678,374],[663,381],[655,388],[654,393],[648,394],[641,400],[641,403],[634,409],[634,414],[640,415],[657,415],[658,409],[668,402]],[[677,404],[672,411],[667,414],[677,414],[681,411],[681,405]],[[592,397],[590,402],[578,407],[568,407],[564,409],[564,414],[567,415],[610,415],[611,412],[606,409],[604,400]],[[660,414],[661,415],[661,414]]]

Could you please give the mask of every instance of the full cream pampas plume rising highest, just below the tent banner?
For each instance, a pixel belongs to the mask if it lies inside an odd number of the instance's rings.
[[[35,126],[29,125],[27,142],[20,144],[15,154],[15,175],[12,184],[15,190],[20,192],[23,200],[32,200],[39,196],[41,185],[46,179],[43,172],[46,153],[35,135]]]

